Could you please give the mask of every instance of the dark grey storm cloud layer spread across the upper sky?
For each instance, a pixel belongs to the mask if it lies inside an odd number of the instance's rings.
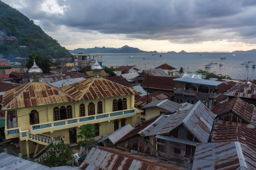
[[[25,1],[19,10],[46,31],[65,25],[128,38],[256,43],[255,0],[57,0],[63,14],[41,11],[44,2]]]

